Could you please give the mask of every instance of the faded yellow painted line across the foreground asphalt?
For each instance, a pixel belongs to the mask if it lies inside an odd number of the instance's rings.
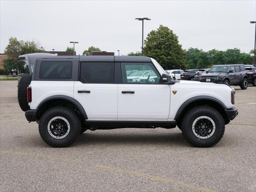
[[[50,160],[58,160],[58,161],[63,161],[63,162],[71,162],[71,163],[76,163],[76,164],[82,164],[82,162],[79,162],[79,161],[64,160],[62,158],[54,158],[54,157],[51,157],[51,156],[34,155],[34,154],[26,154],[26,153],[3,151],[3,150],[0,150],[0,153],[15,154],[15,155],[20,155],[20,156],[31,156],[31,157],[38,157],[38,158],[47,158],[47,159],[50,159]],[[114,168],[114,167],[102,166],[102,165],[99,165],[99,164],[94,164],[94,165],[91,165],[91,166],[96,167],[96,168],[100,168],[100,169],[104,169],[104,170],[111,170],[111,171],[115,171],[115,172],[119,172],[119,173],[124,173],[124,174],[134,175],[134,176],[138,176],[138,177],[148,178],[148,179],[152,179],[152,180],[155,180],[155,181],[171,183],[171,184],[182,186],[184,188],[188,188],[188,189],[195,190],[195,191],[215,192],[214,190],[210,190],[208,188],[194,186],[194,185],[187,184],[187,183],[180,182],[180,181],[169,180],[169,179],[166,179],[166,178],[153,176],[153,175],[150,175],[150,174],[144,174],[144,173],[133,172],[133,171],[124,170],[124,169]]]

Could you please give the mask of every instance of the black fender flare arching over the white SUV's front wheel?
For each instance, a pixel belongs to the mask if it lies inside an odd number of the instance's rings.
[[[214,98],[214,97],[211,97],[211,96],[196,96],[196,97],[192,97],[188,100],[186,100],[181,106],[180,108],[178,109],[178,111],[176,112],[176,115],[175,115],[175,120],[178,120],[180,118],[180,115],[182,113],[182,111],[186,108],[186,106],[188,106],[190,103],[192,102],[195,102],[195,101],[198,101],[198,100],[211,100],[211,101],[214,101],[218,104],[220,104],[220,106],[223,107],[224,110],[226,110],[226,106],[224,105],[224,103],[222,103],[220,100]]]

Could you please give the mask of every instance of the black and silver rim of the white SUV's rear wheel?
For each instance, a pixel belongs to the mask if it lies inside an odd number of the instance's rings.
[[[55,139],[63,139],[70,132],[70,124],[64,117],[54,117],[48,122],[48,133]]]

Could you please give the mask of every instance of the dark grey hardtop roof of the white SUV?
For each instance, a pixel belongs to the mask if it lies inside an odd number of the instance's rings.
[[[92,62],[151,62],[146,56],[56,56],[56,57],[37,57],[38,59],[79,59],[79,61]]]

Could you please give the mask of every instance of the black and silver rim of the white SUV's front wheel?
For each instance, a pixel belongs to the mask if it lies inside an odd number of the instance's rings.
[[[194,135],[200,139],[208,139],[215,132],[216,126],[212,118],[208,116],[200,116],[196,118],[192,124]]]

